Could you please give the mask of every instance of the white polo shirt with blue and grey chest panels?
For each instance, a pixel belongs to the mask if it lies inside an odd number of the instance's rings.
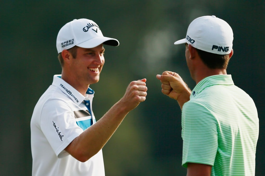
[[[96,120],[92,111],[94,91],[89,88],[83,96],[60,77],[54,75],[52,85],[33,111],[32,175],[105,175],[102,150],[86,162],[76,160],[64,150]]]

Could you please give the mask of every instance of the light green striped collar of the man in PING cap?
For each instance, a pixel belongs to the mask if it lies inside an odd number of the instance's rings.
[[[190,99],[212,85],[234,85],[231,75],[213,75],[202,79],[192,90]]]

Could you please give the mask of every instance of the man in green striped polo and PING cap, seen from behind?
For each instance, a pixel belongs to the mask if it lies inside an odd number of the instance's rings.
[[[234,85],[226,68],[233,55],[233,31],[224,20],[193,20],[185,39],[185,56],[196,86],[166,71],[157,78],[162,93],[182,109],[182,165],[187,175],[255,175],[259,119],[252,98]]]

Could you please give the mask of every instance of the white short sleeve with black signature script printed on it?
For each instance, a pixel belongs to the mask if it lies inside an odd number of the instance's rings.
[[[69,155],[64,149],[83,132],[63,99],[50,99],[44,104],[40,126],[58,158]]]

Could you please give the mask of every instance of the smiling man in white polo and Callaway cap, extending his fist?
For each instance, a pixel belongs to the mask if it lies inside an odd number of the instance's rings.
[[[119,42],[104,37],[92,20],[73,20],[60,29],[56,46],[62,73],[54,75],[30,123],[32,175],[105,175],[101,149],[127,113],[145,101],[147,87],[146,79],[131,82],[124,96],[96,122],[89,85],[99,81],[104,44]]]

